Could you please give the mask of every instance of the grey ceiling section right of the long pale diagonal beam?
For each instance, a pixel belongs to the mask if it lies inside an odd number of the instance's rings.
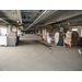
[[[56,10],[52,10],[50,13],[52,13],[54,11]],[[47,27],[48,25],[68,26],[68,23],[70,23],[72,26],[82,25],[82,10],[58,10],[57,12],[54,12],[51,15],[47,16],[46,19],[43,17],[43,20],[38,21],[36,25],[40,25],[40,27]],[[32,28],[33,27],[31,27],[31,30]]]

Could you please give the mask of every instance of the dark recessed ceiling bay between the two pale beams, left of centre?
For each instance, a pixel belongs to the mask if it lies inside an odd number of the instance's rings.
[[[27,27],[43,13],[43,10],[21,10],[21,13],[23,26]]]

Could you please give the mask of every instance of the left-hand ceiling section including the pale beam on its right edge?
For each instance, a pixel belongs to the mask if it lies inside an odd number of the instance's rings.
[[[22,24],[20,10],[0,10],[0,19],[8,22],[9,24],[17,24],[16,21]]]

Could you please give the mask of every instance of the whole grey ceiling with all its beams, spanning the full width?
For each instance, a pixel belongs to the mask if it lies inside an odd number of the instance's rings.
[[[0,25],[12,24],[34,30],[68,26],[68,23],[82,25],[82,10],[0,10]]]

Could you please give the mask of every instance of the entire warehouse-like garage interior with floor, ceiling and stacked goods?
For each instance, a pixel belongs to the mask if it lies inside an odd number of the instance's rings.
[[[0,71],[82,71],[81,48],[82,10],[0,10]]]

